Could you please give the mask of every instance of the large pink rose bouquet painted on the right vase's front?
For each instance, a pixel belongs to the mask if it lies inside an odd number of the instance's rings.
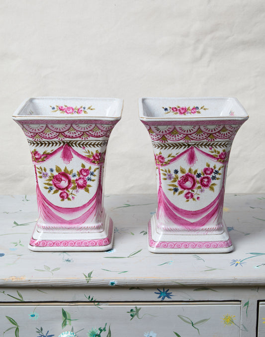
[[[169,191],[173,191],[173,194],[183,194],[186,202],[189,200],[197,201],[200,199],[200,195],[206,190],[214,192],[214,186],[217,184],[215,180],[219,180],[222,173],[220,172],[223,166],[218,169],[216,165],[213,167],[209,163],[206,163],[204,169],[200,172],[198,169],[189,168],[188,171],[180,166],[179,169],[174,169],[173,173],[170,169],[161,169],[164,180],[170,180],[168,184]],[[178,175],[178,174],[181,175]]]

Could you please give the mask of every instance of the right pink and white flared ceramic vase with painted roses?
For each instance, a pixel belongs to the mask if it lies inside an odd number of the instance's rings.
[[[235,98],[140,98],[155,154],[158,207],[153,253],[227,253],[223,221],[228,159],[248,115]]]

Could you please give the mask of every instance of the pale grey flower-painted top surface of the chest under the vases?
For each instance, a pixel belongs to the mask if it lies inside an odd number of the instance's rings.
[[[106,195],[104,205],[114,222],[112,250],[31,252],[27,246],[37,220],[36,196],[0,196],[0,285],[265,285],[265,194],[226,194],[231,253],[150,253],[147,224],[157,196]]]

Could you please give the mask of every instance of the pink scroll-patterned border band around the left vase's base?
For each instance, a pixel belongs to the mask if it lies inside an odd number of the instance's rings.
[[[30,239],[29,245],[32,247],[99,247],[107,246],[111,243],[113,221],[109,218],[108,236],[104,239],[96,240],[35,240]]]

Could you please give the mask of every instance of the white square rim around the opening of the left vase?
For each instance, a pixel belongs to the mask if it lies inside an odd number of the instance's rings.
[[[113,100],[117,101],[118,104],[118,111],[120,111],[119,115],[114,116],[49,116],[49,115],[19,115],[19,112],[25,107],[25,105],[32,101],[33,99],[95,99],[95,100]],[[18,106],[18,108],[15,110],[15,112],[12,115],[12,119],[19,121],[19,120],[58,120],[58,119],[65,119],[65,120],[82,120],[82,119],[88,119],[88,120],[120,120],[122,111],[123,111],[123,104],[124,100],[122,98],[115,98],[115,97],[79,97],[79,96],[36,96],[36,97],[29,97],[23,100],[23,102]]]

